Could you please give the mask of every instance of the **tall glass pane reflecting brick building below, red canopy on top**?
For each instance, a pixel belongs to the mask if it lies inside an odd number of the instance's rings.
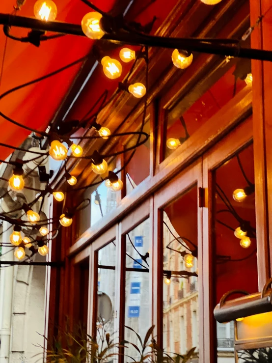
[[[163,348],[185,354],[196,347],[196,362],[197,273],[197,187],[194,187],[163,211]]]

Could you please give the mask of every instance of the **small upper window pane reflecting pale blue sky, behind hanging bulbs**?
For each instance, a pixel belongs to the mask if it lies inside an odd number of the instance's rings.
[[[109,164],[109,170],[116,171],[116,160]],[[103,176],[103,175],[102,175]],[[101,180],[99,177],[96,181]],[[91,226],[101,220],[112,209],[116,208],[116,192],[107,188],[102,182],[91,194]]]

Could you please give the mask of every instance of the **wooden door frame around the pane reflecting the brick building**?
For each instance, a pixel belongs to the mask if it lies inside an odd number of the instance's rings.
[[[157,343],[163,348],[163,207],[186,193],[190,187],[197,185],[197,231],[198,231],[198,304],[199,304],[199,362],[203,362],[203,264],[202,264],[202,207],[200,202],[202,190],[202,160],[198,159],[187,169],[179,173],[154,196],[154,249],[153,249],[153,291],[158,297],[153,306],[154,334]]]

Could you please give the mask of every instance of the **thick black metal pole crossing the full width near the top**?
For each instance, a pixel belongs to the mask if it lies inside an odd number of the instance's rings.
[[[12,27],[38,29],[44,31],[54,31],[56,33],[85,36],[82,28],[77,24],[63,22],[43,22],[42,20],[27,18],[22,16],[12,16],[0,14],[0,24]],[[185,38],[164,38],[151,35],[141,35],[139,33],[129,33],[119,31],[114,34],[105,34],[103,39],[107,39],[116,44],[141,45],[148,47],[159,47],[169,49],[185,49],[192,52],[215,54],[219,56],[236,56],[241,58],[269,60],[272,61],[272,52],[259,49],[241,48],[239,44],[221,44],[219,39],[199,39]],[[222,43],[224,40],[222,39]]]

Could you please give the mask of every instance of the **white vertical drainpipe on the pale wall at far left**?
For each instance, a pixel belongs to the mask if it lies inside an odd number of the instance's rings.
[[[3,221],[3,231],[10,227],[10,224]],[[12,227],[2,234],[2,241],[9,241]],[[1,261],[13,261],[14,250],[11,247],[2,246]],[[13,297],[13,266],[0,269],[0,363],[9,363],[10,335],[12,317]]]

